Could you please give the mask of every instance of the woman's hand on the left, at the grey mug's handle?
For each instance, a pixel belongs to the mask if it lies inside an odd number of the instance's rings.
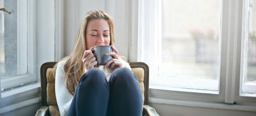
[[[91,47],[93,49],[93,47]],[[95,65],[97,65],[96,58],[94,57],[91,50],[85,50],[82,57],[82,62],[85,66],[86,70],[89,70],[91,68],[94,68]]]

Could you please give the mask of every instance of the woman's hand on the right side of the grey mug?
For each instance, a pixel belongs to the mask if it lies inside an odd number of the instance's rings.
[[[114,52],[108,52],[106,55],[107,56],[113,56],[111,60],[109,60],[104,67],[107,67],[109,72],[113,72],[117,68],[122,67],[122,63],[120,59],[118,58],[118,50],[112,46],[112,49]],[[111,64],[112,63],[112,64]]]

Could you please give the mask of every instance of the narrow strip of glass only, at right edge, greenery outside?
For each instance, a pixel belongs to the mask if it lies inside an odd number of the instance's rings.
[[[256,1],[249,0],[245,82],[256,84]]]

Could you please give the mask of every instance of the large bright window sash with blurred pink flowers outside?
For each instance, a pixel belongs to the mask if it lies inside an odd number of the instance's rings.
[[[155,23],[155,30],[145,27],[152,32],[145,35],[150,44],[142,45],[142,54],[152,56],[142,55],[142,60],[153,70],[151,87],[218,94],[221,1],[162,0],[145,3],[149,7],[157,16],[146,13],[145,19],[155,20],[145,26]]]

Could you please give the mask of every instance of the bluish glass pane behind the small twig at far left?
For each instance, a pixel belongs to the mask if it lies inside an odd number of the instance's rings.
[[[27,61],[27,38],[18,37],[20,19],[18,19],[17,0],[0,0],[0,8],[11,11],[11,14],[0,11],[0,76],[1,79],[5,79],[27,73],[27,62],[22,62]],[[22,42],[24,44],[21,45]]]

